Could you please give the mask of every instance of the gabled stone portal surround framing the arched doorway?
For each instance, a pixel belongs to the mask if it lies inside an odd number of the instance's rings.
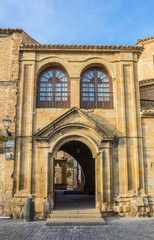
[[[84,169],[86,170],[86,188],[88,192],[95,192],[95,207],[100,208],[100,203],[103,201],[111,202],[112,198],[112,142],[114,136],[106,130],[102,124],[96,122],[85,112],[78,108],[72,108],[65,114],[61,115],[55,121],[47,125],[35,134],[35,140],[38,142],[36,154],[37,164],[46,166],[47,171],[38,172],[37,179],[38,196],[48,197],[51,196],[51,208],[54,208],[54,160],[57,157],[59,150],[71,152],[73,147],[69,150],[71,143],[81,142],[84,144],[84,149],[87,154],[83,154],[82,161],[89,154],[91,159],[91,167],[95,169],[94,173],[87,170],[89,162],[85,163]],[[77,146],[74,146],[77,149]],[[89,150],[86,150],[89,149]],[[105,151],[106,154],[103,154]],[[77,156],[75,156],[77,157]],[[44,162],[42,162],[42,159]],[[93,162],[93,163],[92,163]],[[84,165],[80,163],[80,165]],[[89,168],[89,169],[90,169]],[[44,168],[45,169],[45,168]],[[45,180],[46,185],[40,181]],[[89,176],[93,177],[95,181],[91,181]],[[42,191],[40,192],[40,190]]]

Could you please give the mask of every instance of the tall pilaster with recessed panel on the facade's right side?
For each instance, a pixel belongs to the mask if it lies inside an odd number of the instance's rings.
[[[137,190],[139,187],[139,160],[133,63],[123,64],[123,78],[128,159],[128,190]]]

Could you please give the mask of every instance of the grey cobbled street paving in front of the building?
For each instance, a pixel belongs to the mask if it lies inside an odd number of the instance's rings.
[[[154,240],[154,218],[105,218],[105,226],[46,226],[0,219],[0,240]]]

